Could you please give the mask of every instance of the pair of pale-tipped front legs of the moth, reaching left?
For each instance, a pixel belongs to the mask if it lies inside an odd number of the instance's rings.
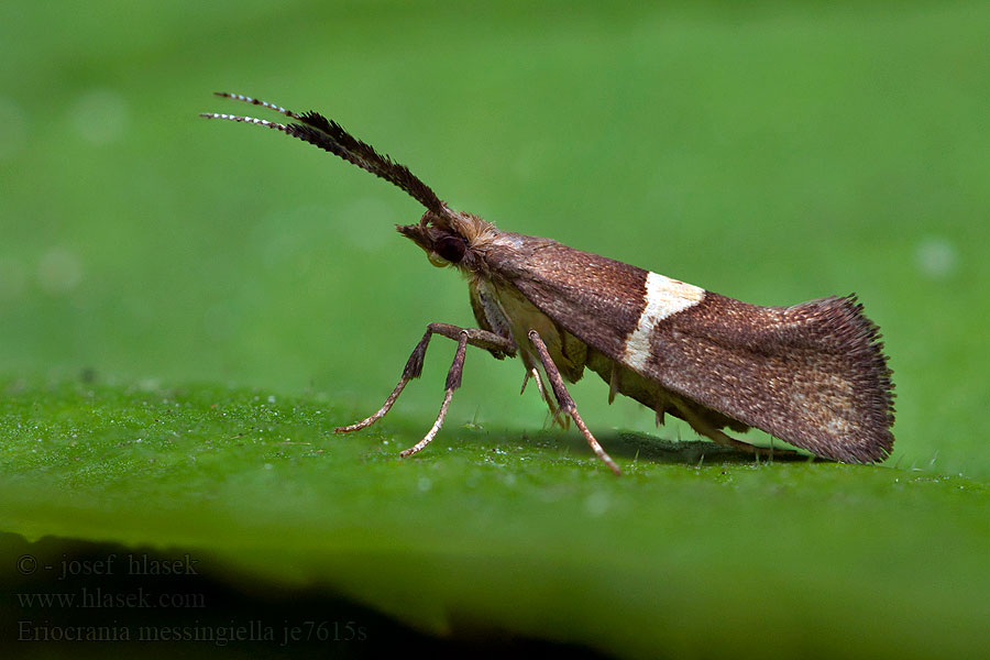
[[[409,454],[416,453],[417,451],[429,444],[429,442],[437,436],[440,427],[443,425],[443,418],[447,416],[447,409],[450,406],[450,399],[453,397],[453,391],[461,386],[461,373],[464,370],[464,354],[466,352],[468,344],[479,346],[488,351],[499,351],[502,353],[505,353],[506,355],[515,355],[516,353],[516,344],[513,343],[510,339],[507,339],[499,334],[495,334],[494,332],[488,332],[487,330],[481,330],[479,328],[459,328],[449,323],[430,323],[429,326],[427,326],[427,331],[426,333],[424,333],[422,339],[419,340],[419,343],[416,344],[415,349],[413,349],[413,354],[409,355],[409,360],[406,362],[405,369],[403,369],[403,375],[399,378],[398,384],[395,386],[395,389],[392,391],[392,394],[388,395],[388,398],[385,399],[385,404],[378,409],[378,411],[371,417],[362,419],[359,422],[345,427],[338,427],[333,430],[338,433],[356,431],[370,427],[374,422],[385,417],[385,414],[392,409],[392,406],[395,404],[398,395],[402,394],[403,389],[406,387],[406,384],[413,378],[418,378],[422,373],[422,362],[426,358],[426,350],[427,346],[429,346],[430,338],[433,334],[440,334],[442,337],[447,337],[448,339],[457,341],[458,352],[454,355],[453,363],[450,365],[450,372],[447,374],[447,386],[446,393],[443,395],[443,404],[440,407],[440,414],[437,416],[437,421],[433,422],[432,428],[424,437],[422,440],[420,440],[415,447],[410,447],[399,454],[404,458],[408,457]]]

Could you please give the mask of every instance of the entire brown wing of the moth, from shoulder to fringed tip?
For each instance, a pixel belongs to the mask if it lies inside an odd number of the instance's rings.
[[[647,271],[553,242],[522,260],[493,256],[569,332],[692,402],[822,457],[871,462],[890,452],[890,371],[851,297],[760,307],[703,292],[680,309],[668,300],[675,311],[644,324]]]

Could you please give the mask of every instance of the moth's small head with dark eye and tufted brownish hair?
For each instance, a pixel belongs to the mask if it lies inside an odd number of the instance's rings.
[[[495,227],[471,213],[451,211],[446,207],[442,215],[427,211],[418,224],[399,224],[396,229],[422,248],[435,266],[475,270],[479,251],[494,237]]]

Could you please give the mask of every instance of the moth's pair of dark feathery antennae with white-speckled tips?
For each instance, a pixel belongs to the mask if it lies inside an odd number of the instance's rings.
[[[293,138],[298,138],[304,142],[308,142],[336,156],[340,156],[348,163],[356,165],[365,172],[370,172],[375,176],[398,186],[413,197],[413,199],[430,211],[433,211],[437,216],[444,219],[453,217],[453,212],[439,197],[437,197],[437,194],[422,183],[419,177],[409,172],[408,167],[396,163],[387,155],[380,154],[372,145],[354,138],[332,119],[327,119],[319,112],[314,111],[299,114],[298,112],[293,112],[282,106],[276,106],[275,103],[270,103],[268,101],[262,101],[240,94],[230,94],[227,91],[217,91],[215,94],[219,97],[232,99],[234,101],[274,110],[295,121],[278,123],[264,119],[256,119],[254,117],[224,114],[220,112],[204,112],[200,117],[205,117],[206,119],[226,119],[242,123],[253,123],[280,131]]]

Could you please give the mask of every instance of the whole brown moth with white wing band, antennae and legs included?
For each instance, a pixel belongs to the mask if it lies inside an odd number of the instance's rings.
[[[296,113],[246,96],[217,96],[261,106],[288,118],[279,123],[207,112],[309,142],[405,190],[426,208],[419,222],[397,226],[435,266],[468,279],[477,328],[429,323],[384,405],[339,432],[366,428],[420,375],[435,334],[458,343],[437,420],[408,457],[443,425],[469,345],[497,359],[518,356],[551,419],[573,419],[592,451],[615,473],[578,413],[565,382],[585,369],[616,394],[686,421],[718,444],[756,455],[795,454],[728,436],[757,428],[816,457],[853,463],[886,459],[893,447],[893,384],[877,328],[855,295],[790,307],[741,302],[550,239],[502,231],[457,211],[409,169],[380,154],[317,112]]]

